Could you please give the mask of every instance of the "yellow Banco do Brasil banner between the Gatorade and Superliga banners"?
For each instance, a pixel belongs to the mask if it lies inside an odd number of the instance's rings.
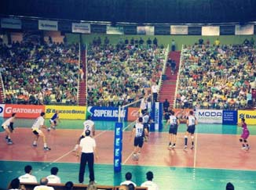
[[[53,117],[56,110],[59,111],[60,119],[86,119],[86,106],[46,106],[46,118]]]

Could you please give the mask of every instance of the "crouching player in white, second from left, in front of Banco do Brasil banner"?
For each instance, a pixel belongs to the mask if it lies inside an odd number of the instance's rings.
[[[41,131],[41,128],[47,128],[47,126],[44,124],[45,123],[45,117],[46,113],[40,113],[40,117],[38,117],[33,126],[31,127],[32,132],[35,134],[35,140],[33,142],[33,146],[37,146],[38,138],[42,137],[43,140],[43,149],[44,150],[50,150],[49,147],[47,146],[46,143],[46,135]]]

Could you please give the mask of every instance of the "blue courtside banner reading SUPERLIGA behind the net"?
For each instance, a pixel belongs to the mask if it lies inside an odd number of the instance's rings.
[[[87,112],[91,115],[92,120],[118,121],[119,119],[119,108],[117,107],[88,106]],[[121,117],[127,120],[127,109],[123,110]]]

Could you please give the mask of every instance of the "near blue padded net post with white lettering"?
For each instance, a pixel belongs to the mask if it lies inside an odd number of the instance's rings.
[[[115,123],[114,138],[114,172],[122,170],[122,151],[123,151],[123,123]]]

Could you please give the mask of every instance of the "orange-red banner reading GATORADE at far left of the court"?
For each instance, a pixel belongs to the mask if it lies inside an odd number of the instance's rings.
[[[37,118],[44,110],[45,106],[5,104],[4,117],[16,113],[17,118]]]

